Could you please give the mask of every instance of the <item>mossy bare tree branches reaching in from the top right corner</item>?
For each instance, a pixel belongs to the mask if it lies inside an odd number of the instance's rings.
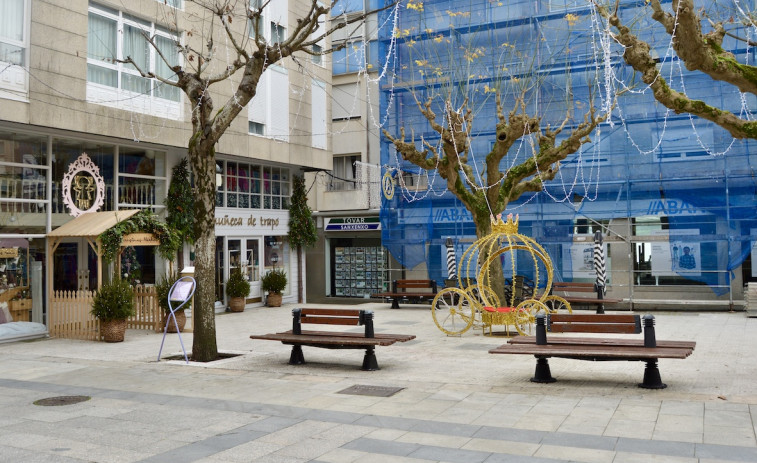
[[[733,85],[743,93],[757,95],[757,67],[740,63],[733,53],[723,48],[726,37],[742,41],[744,46],[755,45],[731,32],[738,26],[754,28],[751,12],[739,7],[725,13],[723,18],[711,18],[704,9],[713,4],[709,1],[673,0],[669,9],[663,8],[659,0],[649,0],[647,4],[645,8],[668,33],[673,50],[686,69],[704,73],[713,81]],[[714,122],[734,138],[757,138],[757,121],[672,89],[660,72],[659,59],[651,52],[655,44],[650,45],[634,34],[621,19],[619,6],[617,0],[614,5],[597,4],[598,11],[616,31],[614,39],[625,48],[623,59],[640,74],[657,101],[676,113],[690,113]]]

